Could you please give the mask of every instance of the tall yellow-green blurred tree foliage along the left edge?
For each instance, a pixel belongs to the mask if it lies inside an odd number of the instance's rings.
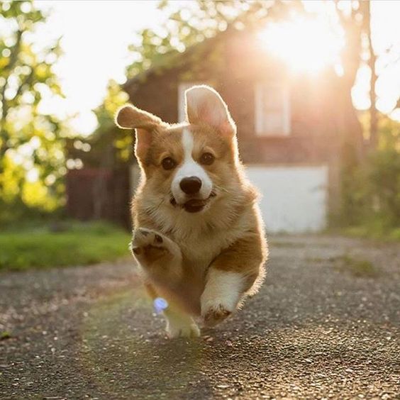
[[[0,4],[0,221],[62,202],[65,121],[43,109],[43,99],[62,96],[52,70],[60,45],[39,48],[34,40],[45,21],[32,1]]]

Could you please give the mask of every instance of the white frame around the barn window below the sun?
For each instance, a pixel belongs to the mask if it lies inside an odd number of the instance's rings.
[[[267,87],[282,87],[283,91],[283,115],[282,130],[279,132],[267,132],[264,128],[264,107],[262,105],[263,92]],[[255,86],[255,133],[262,137],[282,137],[289,136],[291,133],[291,116],[290,116],[290,91],[286,82],[260,82]]]

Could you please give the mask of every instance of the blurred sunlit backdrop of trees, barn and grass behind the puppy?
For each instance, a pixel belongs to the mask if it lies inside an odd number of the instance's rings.
[[[270,233],[400,240],[399,1],[2,1],[0,269],[128,254],[131,101],[238,123]]]

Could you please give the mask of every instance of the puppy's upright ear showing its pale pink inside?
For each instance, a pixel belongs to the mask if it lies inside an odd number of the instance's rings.
[[[194,86],[185,91],[185,98],[189,123],[206,123],[223,135],[235,135],[235,123],[218,91],[206,85]]]

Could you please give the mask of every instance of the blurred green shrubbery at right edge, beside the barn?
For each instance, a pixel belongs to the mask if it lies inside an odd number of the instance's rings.
[[[343,225],[384,235],[400,227],[400,124],[385,118],[379,146],[361,165],[351,153],[343,169]]]

